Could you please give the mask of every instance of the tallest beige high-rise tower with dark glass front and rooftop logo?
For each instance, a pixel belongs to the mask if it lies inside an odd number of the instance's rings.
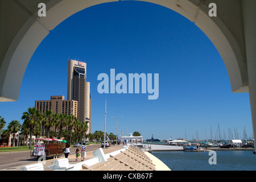
[[[78,102],[77,119],[85,122],[88,125],[90,132],[91,117],[90,117],[90,82],[86,82],[86,63],[69,60],[68,61],[68,100],[75,100]]]

